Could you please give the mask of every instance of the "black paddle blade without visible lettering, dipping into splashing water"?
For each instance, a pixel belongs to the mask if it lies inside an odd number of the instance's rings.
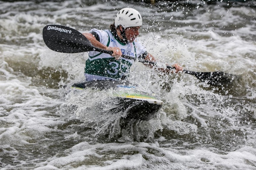
[[[223,84],[230,84],[234,76],[224,72],[190,72],[186,73],[196,76],[200,81],[207,82],[207,84],[214,86],[221,86]]]

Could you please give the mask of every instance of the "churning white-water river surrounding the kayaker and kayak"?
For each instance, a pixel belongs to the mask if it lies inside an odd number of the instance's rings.
[[[51,51],[45,25],[108,29],[123,7],[143,16],[138,39],[159,63],[235,75],[209,86],[136,62],[130,82],[164,101],[154,119],[111,114],[114,91],[64,96],[87,53]],[[0,1],[2,169],[256,169],[255,1]]]

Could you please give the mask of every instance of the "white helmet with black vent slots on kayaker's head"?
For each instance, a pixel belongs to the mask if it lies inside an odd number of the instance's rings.
[[[140,13],[133,8],[123,8],[118,11],[115,18],[115,27],[122,25],[124,28],[139,27],[142,25]]]

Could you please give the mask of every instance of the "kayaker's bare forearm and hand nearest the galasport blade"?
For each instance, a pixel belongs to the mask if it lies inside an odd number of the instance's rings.
[[[98,40],[96,40],[95,36],[91,33],[84,33],[83,34],[95,47],[102,48],[105,50],[113,51],[113,54],[111,54],[112,57],[119,60],[122,56],[122,52],[120,48],[117,47],[107,47],[106,45],[100,43]]]

